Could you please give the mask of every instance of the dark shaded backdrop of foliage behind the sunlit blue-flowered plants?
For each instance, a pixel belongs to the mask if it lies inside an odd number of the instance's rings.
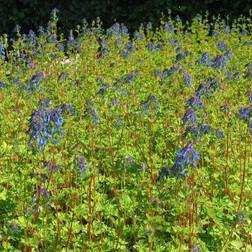
[[[241,14],[248,15],[252,0],[0,0],[0,34],[13,35],[16,24],[21,32],[37,30],[46,26],[53,8],[59,10],[59,30],[65,34],[87,21],[100,17],[104,27],[111,26],[115,20],[126,24],[130,31],[136,30],[140,23],[158,24],[161,13],[179,15],[182,20],[190,20],[197,13],[207,10],[211,15],[229,15],[231,20]]]

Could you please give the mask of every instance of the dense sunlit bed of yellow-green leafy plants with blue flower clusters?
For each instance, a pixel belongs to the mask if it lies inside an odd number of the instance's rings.
[[[0,250],[251,251],[250,18],[0,38]]]

